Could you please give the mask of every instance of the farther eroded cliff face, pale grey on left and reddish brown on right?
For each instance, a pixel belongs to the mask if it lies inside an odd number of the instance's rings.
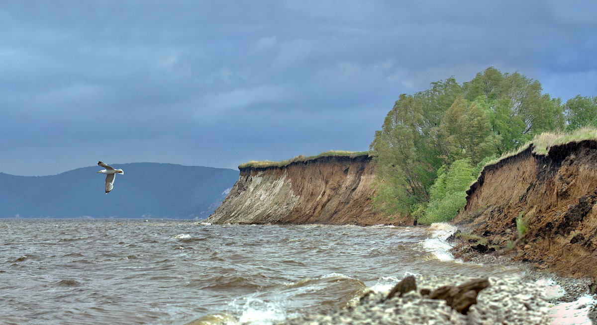
[[[241,168],[220,207],[206,221],[241,224],[388,223],[371,209],[371,157],[323,156],[276,167]]]

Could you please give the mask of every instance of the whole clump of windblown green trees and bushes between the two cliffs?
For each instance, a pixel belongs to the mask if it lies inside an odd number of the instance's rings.
[[[531,141],[544,153],[553,144],[594,138],[594,129],[577,130],[595,125],[596,97],[562,104],[518,72],[489,67],[462,84],[433,82],[426,91],[400,95],[376,131],[374,208],[424,223],[448,221],[483,166]]]

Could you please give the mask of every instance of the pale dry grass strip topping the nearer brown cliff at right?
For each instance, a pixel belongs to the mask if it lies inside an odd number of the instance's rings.
[[[597,140],[597,128],[581,128],[572,132],[561,133],[543,132],[541,134],[535,135],[533,140],[528,141],[524,145],[520,146],[518,149],[504,153],[501,155],[501,157],[491,160],[487,163],[487,165],[493,165],[494,163],[506,159],[507,157],[515,156],[516,154],[519,154],[522,151],[526,150],[531,144],[533,144],[533,153],[547,154],[547,150],[549,150],[549,147],[557,146],[558,144],[565,144],[569,142],[590,139]]]

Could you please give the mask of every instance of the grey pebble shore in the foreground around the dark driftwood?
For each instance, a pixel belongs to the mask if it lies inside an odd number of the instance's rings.
[[[546,277],[547,276],[547,277]],[[429,298],[442,286],[472,280],[416,277],[417,290],[384,301],[387,292],[370,292],[350,307],[309,315],[282,324],[592,324],[595,298],[588,279],[559,277],[534,271],[520,276],[488,278],[489,286],[476,296],[466,314],[447,301]],[[422,294],[421,294],[422,292]]]

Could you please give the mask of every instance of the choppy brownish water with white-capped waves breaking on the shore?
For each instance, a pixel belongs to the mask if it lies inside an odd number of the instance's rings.
[[[0,219],[0,323],[268,323],[341,307],[450,261],[424,228]],[[439,258],[438,258],[439,257]]]

